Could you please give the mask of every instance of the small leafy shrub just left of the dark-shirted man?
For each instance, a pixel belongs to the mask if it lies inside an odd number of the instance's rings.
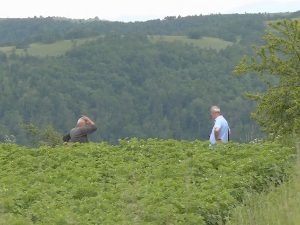
[[[62,143],[62,134],[55,131],[51,125],[48,125],[44,131],[40,128],[30,124],[22,124],[21,127],[34,137],[31,137],[31,143],[38,147],[41,146],[50,146],[55,147],[61,145]]]

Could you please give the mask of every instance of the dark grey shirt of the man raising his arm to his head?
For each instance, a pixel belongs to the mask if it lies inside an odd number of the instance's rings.
[[[80,142],[80,143],[88,143],[88,134],[93,133],[97,130],[96,125],[91,125],[89,127],[75,127],[65,136],[63,136],[64,142]]]

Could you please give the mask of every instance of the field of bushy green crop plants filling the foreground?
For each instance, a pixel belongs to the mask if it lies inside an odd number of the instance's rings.
[[[295,158],[271,143],[120,144],[0,145],[1,224],[221,224],[246,191],[287,177]]]

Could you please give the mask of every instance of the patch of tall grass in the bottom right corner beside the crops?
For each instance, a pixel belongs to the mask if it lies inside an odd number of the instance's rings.
[[[238,207],[227,225],[299,225],[300,224],[300,164],[291,183],[284,183],[264,195],[249,195],[245,206]]]

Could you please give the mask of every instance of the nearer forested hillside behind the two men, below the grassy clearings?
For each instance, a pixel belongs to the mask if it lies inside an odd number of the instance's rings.
[[[1,54],[1,136],[14,134],[24,143],[19,126],[29,122],[67,132],[85,114],[99,125],[94,141],[206,140],[216,104],[235,140],[245,140],[254,104],[242,93],[262,91],[259,80],[231,75],[245,51],[236,45],[217,53],[114,34],[56,58]]]

